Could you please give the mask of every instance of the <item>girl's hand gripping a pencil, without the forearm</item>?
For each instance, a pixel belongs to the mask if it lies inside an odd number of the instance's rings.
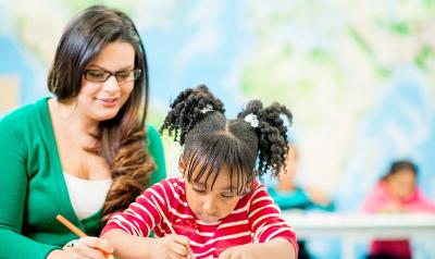
[[[156,248],[151,251],[154,259],[194,259],[194,252],[189,248],[189,238],[171,234],[156,238]]]

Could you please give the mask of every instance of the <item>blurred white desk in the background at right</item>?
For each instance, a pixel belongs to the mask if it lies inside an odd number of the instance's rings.
[[[356,258],[361,239],[428,237],[435,239],[435,214],[340,214],[294,213],[283,217],[295,227],[298,238],[340,237],[341,258]]]

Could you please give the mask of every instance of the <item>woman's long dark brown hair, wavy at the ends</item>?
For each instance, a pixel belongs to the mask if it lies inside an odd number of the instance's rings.
[[[112,170],[113,184],[103,206],[103,222],[141,193],[156,169],[145,146],[147,57],[133,21],[125,13],[103,5],[86,9],[67,24],[48,76],[48,88],[59,101],[76,97],[86,65],[108,44],[116,41],[133,46],[135,69],[140,69],[141,74],[116,116],[99,124],[96,146],[85,148],[103,157]]]

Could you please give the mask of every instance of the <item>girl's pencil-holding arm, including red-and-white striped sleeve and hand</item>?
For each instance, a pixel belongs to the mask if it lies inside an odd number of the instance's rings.
[[[160,207],[170,218],[170,206],[165,201],[175,197],[170,184],[169,181],[162,181],[149,187],[127,210],[111,217],[101,237],[112,245],[115,258],[186,258],[189,254],[188,238],[170,234],[167,225],[161,224],[162,217],[157,209]],[[163,237],[148,237],[158,225]]]

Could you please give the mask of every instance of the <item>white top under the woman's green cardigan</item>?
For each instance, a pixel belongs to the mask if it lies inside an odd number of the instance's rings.
[[[113,180],[89,181],[63,173],[70,200],[79,220],[86,219],[102,208]]]

